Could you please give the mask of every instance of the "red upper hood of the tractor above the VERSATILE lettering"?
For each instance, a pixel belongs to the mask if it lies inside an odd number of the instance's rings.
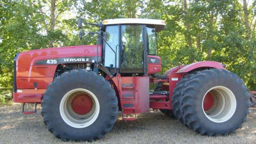
[[[101,57],[101,46],[98,46],[98,56]],[[16,66],[32,66],[48,59],[76,57],[97,57],[97,45],[76,45],[65,47],[52,47],[49,49],[32,50],[19,53],[16,59]]]

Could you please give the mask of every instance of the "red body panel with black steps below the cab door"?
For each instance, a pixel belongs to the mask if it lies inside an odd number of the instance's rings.
[[[119,75],[112,80],[118,88],[119,105],[124,114],[143,113],[149,110],[149,77],[120,77]],[[125,97],[125,95],[129,95],[129,97]]]

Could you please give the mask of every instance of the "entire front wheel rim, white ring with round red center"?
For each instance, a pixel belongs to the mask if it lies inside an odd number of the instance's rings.
[[[99,115],[99,101],[88,89],[67,92],[60,101],[59,111],[65,123],[74,128],[88,127]]]

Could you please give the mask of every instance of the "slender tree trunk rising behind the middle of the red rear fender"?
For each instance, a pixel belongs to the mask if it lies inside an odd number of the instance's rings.
[[[210,12],[209,19],[209,40],[210,46],[208,47],[207,59],[210,59],[211,51],[212,51],[212,43],[214,42],[214,10]]]

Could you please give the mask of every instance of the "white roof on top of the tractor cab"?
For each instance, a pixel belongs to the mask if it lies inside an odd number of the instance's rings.
[[[160,19],[145,19],[145,18],[116,18],[106,19],[102,21],[103,25],[118,25],[118,24],[144,24],[154,26],[156,32],[163,30],[166,27],[165,21]]]

